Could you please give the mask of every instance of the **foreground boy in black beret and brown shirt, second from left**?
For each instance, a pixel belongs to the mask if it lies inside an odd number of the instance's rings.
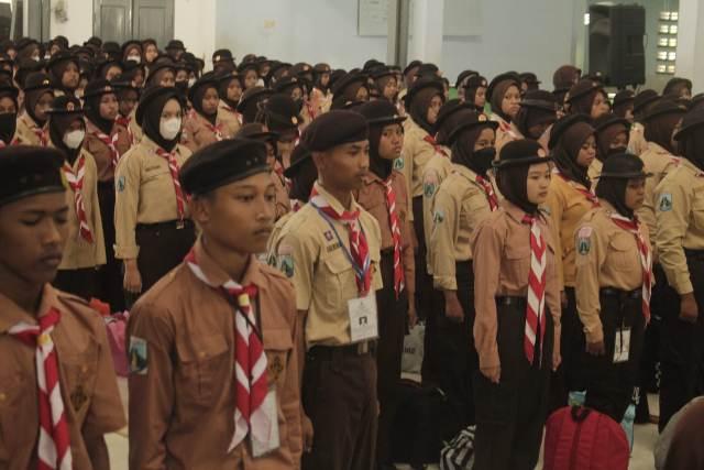
[[[302,330],[260,263],[274,223],[262,142],[194,154],[180,182],[200,236],[128,326],[131,469],[297,469]]]

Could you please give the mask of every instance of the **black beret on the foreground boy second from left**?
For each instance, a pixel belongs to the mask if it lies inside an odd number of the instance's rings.
[[[202,195],[268,171],[264,142],[227,139],[194,153],[182,166],[179,181],[186,194]]]

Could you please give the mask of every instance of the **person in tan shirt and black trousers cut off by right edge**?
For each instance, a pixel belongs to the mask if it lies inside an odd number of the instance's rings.
[[[656,187],[660,265],[680,297],[663,309],[660,430],[670,417],[701,394],[704,361],[704,111],[685,114],[674,134],[680,164]],[[676,305],[676,296],[672,299]]]

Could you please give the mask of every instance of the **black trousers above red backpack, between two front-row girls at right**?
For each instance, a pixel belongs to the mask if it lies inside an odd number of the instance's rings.
[[[584,390],[585,378],[582,358],[585,348],[584,326],[576,311],[576,296],[574,287],[565,287],[568,297],[566,307],[562,308],[560,317],[562,329],[560,331],[560,356],[562,362],[556,372],[552,372],[550,383],[549,413],[566,406],[571,391]]]

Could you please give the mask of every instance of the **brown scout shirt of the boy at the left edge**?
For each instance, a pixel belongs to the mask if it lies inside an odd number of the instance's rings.
[[[61,313],[51,337],[58,359],[73,469],[99,470],[90,461],[86,441],[127,425],[106,326],[84,299],[47,284],[38,316],[52,308]],[[19,323],[37,324],[33,315],[0,294],[0,468],[6,470],[36,468],[40,435],[35,349],[9,334]]]

